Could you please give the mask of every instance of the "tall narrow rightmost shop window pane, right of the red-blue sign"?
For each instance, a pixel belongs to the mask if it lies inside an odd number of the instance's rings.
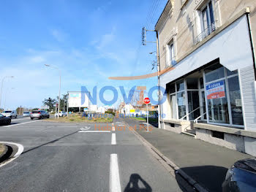
[[[228,89],[230,93],[230,106],[232,123],[234,125],[244,125],[242,104],[241,104],[241,93],[239,88],[238,76],[230,77],[227,79]]]

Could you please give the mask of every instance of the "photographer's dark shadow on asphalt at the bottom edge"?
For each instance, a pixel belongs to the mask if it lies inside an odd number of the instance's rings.
[[[139,186],[139,183],[140,186]],[[140,174],[134,173],[131,174],[129,177],[129,183],[127,186],[124,188],[124,192],[151,192],[152,188],[148,183],[146,183],[143,178],[140,177]]]

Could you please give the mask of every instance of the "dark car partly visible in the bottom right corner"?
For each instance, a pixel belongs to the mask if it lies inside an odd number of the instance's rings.
[[[236,161],[227,170],[226,178],[222,183],[223,192],[255,192],[256,191],[256,159],[246,158]]]

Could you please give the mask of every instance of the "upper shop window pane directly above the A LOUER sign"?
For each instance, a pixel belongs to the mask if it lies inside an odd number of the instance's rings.
[[[225,77],[224,67],[221,64],[214,64],[205,69],[206,82],[211,82]]]

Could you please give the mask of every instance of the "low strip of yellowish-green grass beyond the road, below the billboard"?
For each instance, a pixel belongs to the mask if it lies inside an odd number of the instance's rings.
[[[95,117],[83,117],[82,115],[78,114],[71,114],[68,117],[60,117],[58,118],[51,118],[46,119],[45,121],[52,121],[52,122],[59,122],[59,123],[112,123],[113,122],[113,115],[106,115],[105,118],[103,115],[96,115]]]

